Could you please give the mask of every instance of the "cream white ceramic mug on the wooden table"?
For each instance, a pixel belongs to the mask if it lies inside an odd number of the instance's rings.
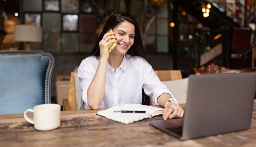
[[[34,113],[34,120],[27,116],[28,112]],[[27,109],[24,118],[34,124],[34,128],[39,131],[48,131],[58,128],[61,125],[61,106],[59,104],[40,104]]]

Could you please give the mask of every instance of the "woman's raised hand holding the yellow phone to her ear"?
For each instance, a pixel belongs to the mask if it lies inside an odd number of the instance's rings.
[[[115,34],[114,32],[104,34],[104,36],[102,37],[102,40],[99,42],[101,59],[108,60],[108,57],[109,57],[108,46],[111,43],[117,43],[117,40],[110,40],[112,38],[114,39],[117,38],[114,36],[114,34]]]

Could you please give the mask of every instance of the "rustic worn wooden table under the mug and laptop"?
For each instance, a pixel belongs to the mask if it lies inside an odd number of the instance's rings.
[[[256,146],[255,100],[249,130],[186,141],[149,125],[161,116],[125,125],[96,112],[62,111],[61,126],[52,131],[36,131],[23,114],[0,115],[0,146]]]

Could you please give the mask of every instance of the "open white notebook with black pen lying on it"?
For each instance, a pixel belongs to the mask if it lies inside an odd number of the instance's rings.
[[[115,113],[119,110],[138,110],[146,111],[146,113]],[[137,122],[142,119],[151,118],[163,114],[163,108],[157,108],[152,106],[146,106],[142,104],[124,104],[123,106],[114,106],[107,110],[98,111],[97,115],[104,116],[107,119],[111,119],[117,122],[129,124]]]

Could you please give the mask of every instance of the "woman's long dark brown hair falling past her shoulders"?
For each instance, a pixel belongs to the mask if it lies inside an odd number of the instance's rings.
[[[144,47],[143,47],[138,22],[135,20],[135,18],[133,16],[131,16],[130,14],[127,14],[127,13],[116,13],[116,14],[111,15],[108,18],[108,20],[98,38],[98,41],[96,42],[96,44],[95,44],[94,48],[92,49],[92,52],[89,54],[89,56],[100,56],[99,42],[102,40],[102,37],[104,36],[105,33],[107,33],[107,31],[109,29],[114,29],[118,24],[120,24],[123,21],[130,22],[135,27],[134,43],[130,47],[130,49],[127,51],[126,54],[130,54],[131,56],[143,57],[149,63],[148,58],[145,53],[145,50],[144,50]],[[142,90],[142,104],[145,104],[145,105],[150,104],[150,98],[149,98],[149,96],[147,96],[144,93],[144,90]]]

